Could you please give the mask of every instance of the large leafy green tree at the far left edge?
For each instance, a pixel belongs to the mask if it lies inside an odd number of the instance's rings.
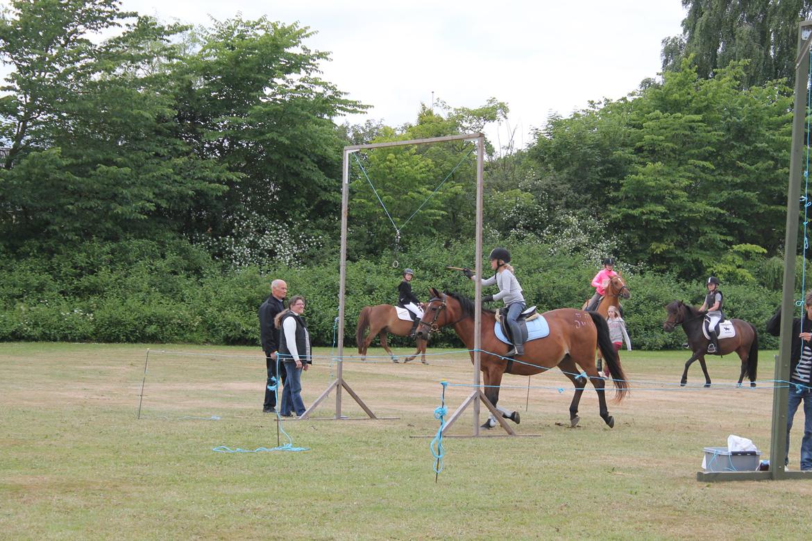
[[[172,135],[171,100],[152,68],[171,58],[168,41],[183,28],[119,4],[15,0],[2,13],[0,58],[12,67],[0,98],[7,245],[162,234],[194,194],[222,193],[233,176]]]

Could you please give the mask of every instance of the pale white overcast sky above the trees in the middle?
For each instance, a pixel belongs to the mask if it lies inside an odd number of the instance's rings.
[[[495,97],[511,112],[489,138],[504,144],[515,128],[520,148],[550,112],[624,97],[657,76],[661,41],[685,17],[680,0],[123,0],[123,8],[191,24],[238,12],[299,21],[317,31],[310,48],[330,52],[324,78],[373,105],[350,122],[415,122],[432,92],[453,107]]]

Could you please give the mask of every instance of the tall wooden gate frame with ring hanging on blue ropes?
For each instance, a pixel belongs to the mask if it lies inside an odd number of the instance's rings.
[[[482,276],[482,192],[483,192],[483,182],[482,182],[482,173],[484,170],[484,161],[485,161],[485,135],[482,133],[471,133],[467,135],[447,135],[445,137],[431,137],[428,139],[417,139],[417,140],[408,140],[408,141],[392,141],[390,143],[373,143],[373,144],[354,144],[344,147],[343,152],[343,165],[342,165],[342,182],[341,182],[341,263],[339,269],[339,329],[338,329],[338,359],[336,361],[336,375],[335,380],[333,380],[330,385],[327,386],[327,389],[322,392],[319,397],[313,401],[313,404],[304,411],[303,414],[300,415],[299,419],[306,419],[309,417],[309,414],[315,410],[319,404],[322,403],[330,395],[330,392],[335,389],[335,417],[331,419],[347,419],[342,415],[342,390],[347,391],[347,393],[352,397],[353,400],[356,401],[358,406],[361,406],[361,409],[365,411],[365,413],[369,416],[369,419],[381,419],[378,418],[372,410],[369,409],[368,406],[361,400],[359,397],[349,386],[346,380],[343,377],[343,354],[344,354],[344,298],[346,294],[346,283],[347,283],[347,222],[348,222],[348,207],[349,207],[349,157],[350,154],[353,152],[358,152],[360,150],[365,150],[367,148],[387,148],[387,147],[398,147],[404,146],[408,144],[431,144],[431,143],[443,143],[447,141],[460,141],[460,140],[469,140],[475,141],[477,144],[477,236],[476,236],[476,273],[477,276]],[[477,328],[477,332],[474,335],[473,339],[473,386],[474,391],[467,397],[462,405],[451,415],[448,419],[448,423],[446,424],[445,428],[451,427],[456,419],[459,418],[462,411],[467,408],[468,406],[473,405],[473,435],[479,435],[479,403],[482,401],[486,408],[490,410],[491,413],[495,414],[496,419],[499,420],[501,426],[511,434],[512,436],[516,436],[516,432],[513,432],[512,428],[508,426],[508,423],[502,419],[502,415],[498,413],[495,406],[490,403],[490,401],[485,396],[485,393],[482,393],[482,384],[480,380],[480,350],[482,349],[482,283],[480,281],[476,282],[475,294],[474,294],[474,303],[476,303],[477,311],[476,316],[474,318],[474,325]],[[444,431],[443,431],[444,432]]]

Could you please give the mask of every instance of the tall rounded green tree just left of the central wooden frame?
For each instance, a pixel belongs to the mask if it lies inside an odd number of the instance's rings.
[[[238,16],[199,28],[169,69],[180,139],[239,174],[224,197],[197,198],[184,230],[236,262],[269,260],[283,242],[312,250],[336,230],[346,134],[332,118],[366,106],[318,76],[329,54],[309,49],[312,35]]]

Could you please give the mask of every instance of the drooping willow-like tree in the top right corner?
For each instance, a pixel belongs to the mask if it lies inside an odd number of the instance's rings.
[[[795,80],[797,26],[812,15],[812,0],[682,0],[682,35],[663,40],[663,71],[693,58],[708,78],[730,62],[749,60],[741,84]]]

